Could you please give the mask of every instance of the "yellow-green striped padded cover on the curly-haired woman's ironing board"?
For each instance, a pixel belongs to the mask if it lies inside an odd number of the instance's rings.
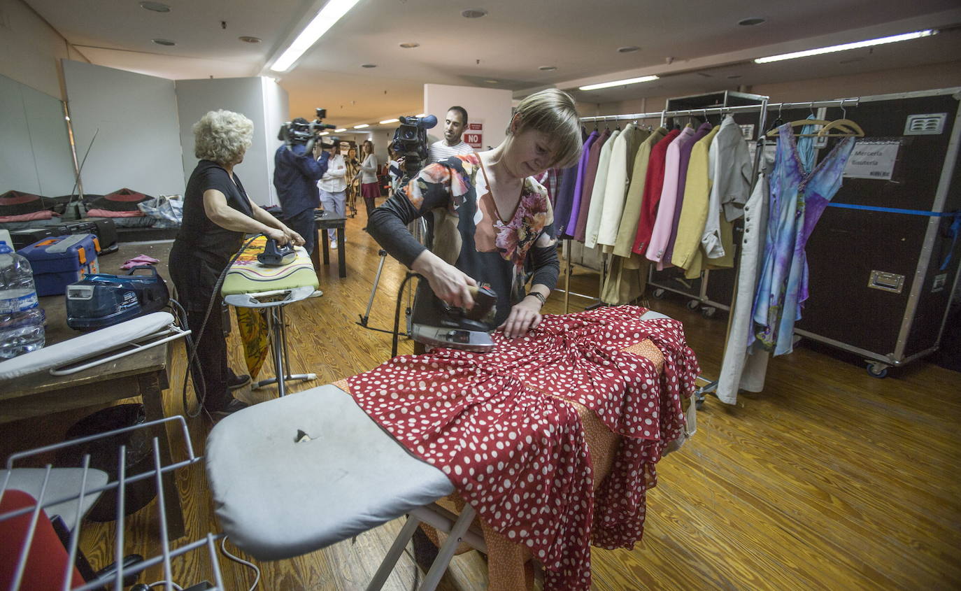
[[[303,247],[298,246],[297,259],[290,264],[280,267],[266,267],[259,263],[257,256],[263,252],[266,236],[258,236],[247,245],[234,260],[224,284],[220,288],[222,295],[234,293],[259,293],[274,289],[290,289],[292,287],[320,286],[317,274],[310,262],[310,255]]]

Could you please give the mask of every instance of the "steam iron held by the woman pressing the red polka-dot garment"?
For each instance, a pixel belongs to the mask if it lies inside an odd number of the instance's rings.
[[[489,287],[471,287],[471,295],[474,308],[454,308],[433,295],[427,282],[422,282],[414,298],[411,338],[429,347],[492,351],[490,332],[497,314],[497,294]]]

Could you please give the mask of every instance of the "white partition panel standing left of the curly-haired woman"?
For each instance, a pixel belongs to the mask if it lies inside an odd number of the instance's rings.
[[[69,60],[62,67],[79,158],[96,134],[81,172],[85,193],[183,194],[173,81]]]

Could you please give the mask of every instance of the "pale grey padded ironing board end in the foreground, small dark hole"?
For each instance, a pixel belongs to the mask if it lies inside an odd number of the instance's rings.
[[[297,431],[310,440],[296,443]],[[206,455],[221,527],[259,560],[319,550],[454,492],[331,384],[226,417]]]

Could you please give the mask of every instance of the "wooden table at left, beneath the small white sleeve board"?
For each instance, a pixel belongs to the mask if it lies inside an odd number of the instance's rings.
[[[41,298],[40,305],[47,313],[48,344],[78,334],[68,329],[65,321],[58,321],[65,314],[63,296]],[[0,387],[0,424],[135,396],[143,400],[147,421],[161,419],[164,417],[162,392],[169,387],[168,364],[167,344],[164,343],[76,374],[51,376],[39,372],[4,383]],[[156,435],[160,443],[160,461],[166,466],[173,462],[170,440],[166,429],[162,426],[161,429],[163,432]],[[185,533],[184,513],[173,473],[163,477],[163,500],[169,538],[182,537]]]

